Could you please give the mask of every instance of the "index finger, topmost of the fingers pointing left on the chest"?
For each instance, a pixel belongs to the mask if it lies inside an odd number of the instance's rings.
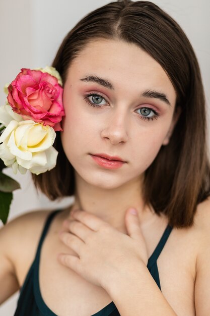
[[[85,210],[76,209],[72,213],[72,216],[73,218],[77,219],[94,231],[98,231],[103,225],[108,225],[107,222],[104,222],[95,215],[86,212]]]

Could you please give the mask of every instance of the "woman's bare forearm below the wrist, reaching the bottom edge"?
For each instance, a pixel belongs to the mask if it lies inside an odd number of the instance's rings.
[[[146,266],[112,276],[106,287],[121,316],[176,316]]]

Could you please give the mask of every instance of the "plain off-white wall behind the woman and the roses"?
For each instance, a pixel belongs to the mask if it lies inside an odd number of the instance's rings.
[[[0,0],[0,103],[5,103],[3,87],[21,68],[50,65],[64,35],[88,12],[111,2],[106,0]],[[210,104],[210,2],[208,0],[154,0],[168,12],[189,37],[203,77],[206,100]],[[1,88],[2,87],[2,88]],[[30,174],[14,176],[21,190],[14,193],[9,220],[29,210],[55,208],[69,203],[50,202],[38,195]],[[0,205],[1,207],[1,205]],[[14,241],[15,242],[15,241]],[[1,284],[1,287],[4,285]],[[18,293],[0,307],[1,316],[12,316]]]

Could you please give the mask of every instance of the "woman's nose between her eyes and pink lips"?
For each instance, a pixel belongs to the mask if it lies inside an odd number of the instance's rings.
[[[106,121],[106,128],[102,130],[101,137],[109,139],[113,145],[125,143],[128,140],[127,115],[125,111],[122,113],[122,110],[111,115],[110,119]]]

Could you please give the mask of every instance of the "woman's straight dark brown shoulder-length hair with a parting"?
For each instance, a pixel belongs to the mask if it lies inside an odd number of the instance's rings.
[[[65,83],[71,62],[90,41],[119,39],[150,54],[167,72],[181,108],[170,142],[162,146],[145,172],[144,198],[174,227],[193,224],[196,205],[209,194],[206,110],[200,70],[193,48],[179,25],[147,1],[112,2],[86,15],[64,38],[52,64]],[[176,111],[175,109],[175,111]],[[57,165],[33,175],[37,188],[50,199],[75,193],[74,169],[57,132]]]

